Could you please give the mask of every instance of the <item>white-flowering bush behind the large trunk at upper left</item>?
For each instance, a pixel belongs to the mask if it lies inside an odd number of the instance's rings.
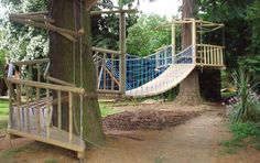
[[[45,11],[47,0],[3,1],[7,12],[0,22],[2,39],[0,48],[8,62],[44,57],[48,52],[47,32],[42,29],[11,23],[8,14],[15,12]]]

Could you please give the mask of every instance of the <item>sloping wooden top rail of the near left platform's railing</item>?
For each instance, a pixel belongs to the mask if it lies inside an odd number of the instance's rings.
[[[39,83],[39,82],[24,80],[24,79],[14,79],[14,78],[8,78],[8,82],[13,83],[13,84],[20,84],[20,85],[36,87],[36,88],[62,90],[62,91],[72,91],[72,93],[75,93],[75,94],[85,94],[84,88],[77,88],[77,87],[68,87],[68,86],[61,86],[61,85]]]

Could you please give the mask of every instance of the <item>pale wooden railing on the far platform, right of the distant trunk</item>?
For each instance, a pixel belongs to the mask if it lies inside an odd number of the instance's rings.
[[[225,66],[224,46],[197,44],[196,63],[201,66]]]

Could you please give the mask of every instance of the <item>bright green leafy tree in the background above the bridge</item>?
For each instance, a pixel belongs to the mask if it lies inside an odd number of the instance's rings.
[[[128,29],[128,53],[145,56],[163,45],[171,44],[171,32],[155,30],[162,23],[167,23],[166,18],[142,14],[137,24]]]

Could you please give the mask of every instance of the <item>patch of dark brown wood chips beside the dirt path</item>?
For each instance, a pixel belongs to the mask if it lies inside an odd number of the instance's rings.
[[[123,111],[104,119],[105,131],[109,130],[162,130],[184,123],[188,119],[199,116],[201,111],[158,111],[139,110]]]

